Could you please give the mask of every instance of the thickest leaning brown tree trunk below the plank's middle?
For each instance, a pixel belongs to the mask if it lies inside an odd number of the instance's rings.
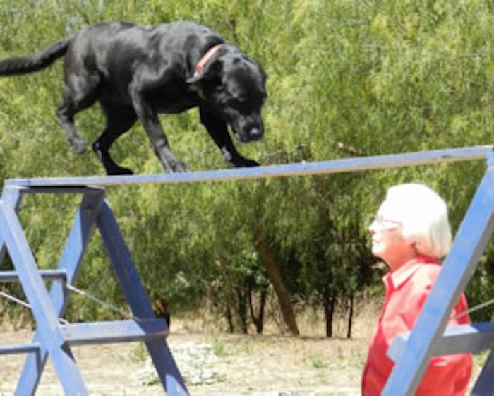
[[[296,324],[294,311],[291,309],[290,294],[284,285],[281,275],[279,274],[279,268],[275,263],[275,258],[273,258],[272,253],[260,232],[255,233],[255,248],[266,268],[267,276],[270,278],[270,281],[275,288],[279,301],[279,307],[282,310],[284,323],[287,324],[291,334],[300,335],[299,327]]]

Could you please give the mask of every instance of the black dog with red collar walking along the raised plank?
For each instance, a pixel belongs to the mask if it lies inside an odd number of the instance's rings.
[[[171,153],[158,114],[200,109],[200,121],[235,167],[257,162],[237,152],[228,124],[241,142],[263,137],[266,99],[263,70],[214,30],[192,22],[157,26],[109,22],[90,25],[32,56],[0,61],[0,76],[38,71],[65,55],[64,92],[57,115],[75,152],[85,141],[76,113],[100,102],[107,125],[92,148],[107,174],[131,174],[109,148],[140,119],[165,169],[186,165]]]

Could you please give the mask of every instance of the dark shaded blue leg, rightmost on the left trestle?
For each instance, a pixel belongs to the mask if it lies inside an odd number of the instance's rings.
[[[152,311],[150,301],[135,270],[131,255],[123,241],[112,209],[106,200],[102,205],[101,215],[97,220],[97,224],[133,315],[141,319],[155,318],[155,313]],[[152,340],[147,341],[146,346],[159,378],[167,391],[167,395],[188,395],[188,390],[183,383],[183,378],[173,356],[171,356],[167,342],[165,340]]]

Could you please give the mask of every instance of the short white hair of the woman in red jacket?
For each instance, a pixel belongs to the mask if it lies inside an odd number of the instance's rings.
[[[404,239],[414,242],[417,253],[440,258],[450,251],[452,235],[447,205],[428,186],[416,183],[392,186],[381,209],[387,220],[402,224]]]

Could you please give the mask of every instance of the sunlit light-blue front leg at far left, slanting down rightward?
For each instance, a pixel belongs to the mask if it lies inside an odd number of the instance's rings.
[[[88,395],[83,378],[72,354],[65,348],[64,337],[59,328],[59,319],[25,239],[25,234],[16,211],[11,204],[0,202],[0,234],[5,241],[8,253],[24,293],[32,307],[32,314],[40,333],[40,343],[49,353],[62,388],[66,395]]]

